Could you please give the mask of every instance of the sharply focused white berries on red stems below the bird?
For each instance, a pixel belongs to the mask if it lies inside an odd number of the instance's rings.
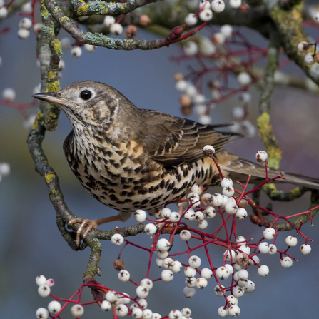
[[[203,152],[216,163],[215,158],[213,158],[214,151],[213,146],[203,148]],[[189,318],[191,310],[188,308],[183,308],[181,311],[171,310],[171,313],[163,317],[147,308],[146,299],[152,295],[151,289],[158,280],[165,283],[172,280],[185,280],[183,294],[186,298],[193,297],[197,291],[200,293],[200,290],[208,287],[209,282],[213,282],[215,295],[223,298],[221,307],[217,310],[218,315],[221,318],[226,318],[228,315],[233,318],[237,317],[240,314],[238,299],[244,294],[253,293],[255,290],[255,283],[249,279],[249,274],[256,271],[258,275],[265,277],[270,271],[267,265],[260,262],[260,259],[263,259],[262,255],[279,255],[280,265],[283,268],[290,268],[293,265],[295,258],[288,253],[288,250],[297,245],[297,238],[292,235],[288,236],[285,239],[287,248],[285,250],[278,249],[278,228],[275,223],[278,220],[283,220],[293,226],[290,218],[303,214],[308,214],[311,218],[311,211],[318,208],[315,207],[310,211],[292,216],[280,216],[278,213],[257,206],[250,198],[250,194],[258,191],[265,183],[283,178],[282,176],[268,178],[267,158],[268,155],[265,151],[256,153],[257,161],[265,163],[266,178],[260,186],[251,191],[247,191],[249,178],[245,185],[238,183],[238,188],[240,188],[238,189],[230,178],[221,176],[223,178],[221,193],[205,193],[202,186],[195,185],[186,198],[177,202],[177,211],[171,211],[170,208],[164,206],[161,210],[148,212],[153,216],[153,218],[148,218],[146,211],[138,209],[134,213],[134,218],[138,223],[148,221],[144,225],[144,233],[151,236],[150,245],[137,245],[131,240],[123,238],[119,231],[111,237],[111,242],[114,245],[125,243],[113,265],[118,270],[119,280],[136,285],[136,295],[129,296],[127,293],[106,288],[97,283],[96,280],[91,280],[84,283],[69,300],[51,295],[55,300],[49,303],[48,310],[45,308],[37,310],[38,318],[45,319],[49,313],[51,313],[51,318],[61,318],[61,312],[68,303],[74,303],[71,313],[78,318],[83,315],[83,306],[91,303],[98,303],[103,311],[113,309],[114,318],[126,315],[131,315],[136,319]],[[222,175],[217,163],[216,166]],[[261,238],[255,242],[253,242],[253,238],[246,239],[243,234],[238,234],[236,231],[236,224],[248,216],[248,206],[252,206],[254,211],[268,213],[274,218],[269,227],[263,231]],[[256,214],[250,219],[254,220],[258,216],[260,214]],[[208,226],[210,226],[210,231],[206,232]],[[214,231],[212,231],[213,228]],[[299,228],[293,226],[293,228],[305,240],[305,243],[300,247],[301,252],[305,255],[310,253],[311,248],[308,241],[311,240],[300,231],[301,226]],[[170,235],[169,238],[164,238],[167,236],[166,234]],[[181,245],[176,245],[177,240],[185,243],[185,249],[181,251],[176,249],[176,246],[181,247]],[[224,248],[223,254],[218,255],[215,250],[213,251],[212,245]],[[130,246],[149,253],[146,275],[141,281],[131,278],[125,263],[121,260],[123,250]],[[208,266],[203,267],[203,265]],[[156,267],[162,269],[159,278],[150,278],[151,268]],[[152,270],[152,273],[155,271]],[[90,303],[81,303],[81,291],[85,286],[90,287],[93,292],[95,290],[99,292],[93,293],[95,300]],[[42,296],[50,294],[50,287],[45,282],[45,278],[41,280],[39,293]],[[79,294],[79,298],[73,300],[77,294]],[[59,303],[61,300],[65,302],[64,306]]]

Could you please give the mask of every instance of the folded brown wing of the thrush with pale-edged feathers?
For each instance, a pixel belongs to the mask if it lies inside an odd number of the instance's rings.
[[[143,142],[149,156],[164,166],[179,166],[204,158],[203,147],[212,145],[216,152],[240,137],[236,133],[215,131],[216,126],[203,125],[158,111],[141,110],[146,126]]]

